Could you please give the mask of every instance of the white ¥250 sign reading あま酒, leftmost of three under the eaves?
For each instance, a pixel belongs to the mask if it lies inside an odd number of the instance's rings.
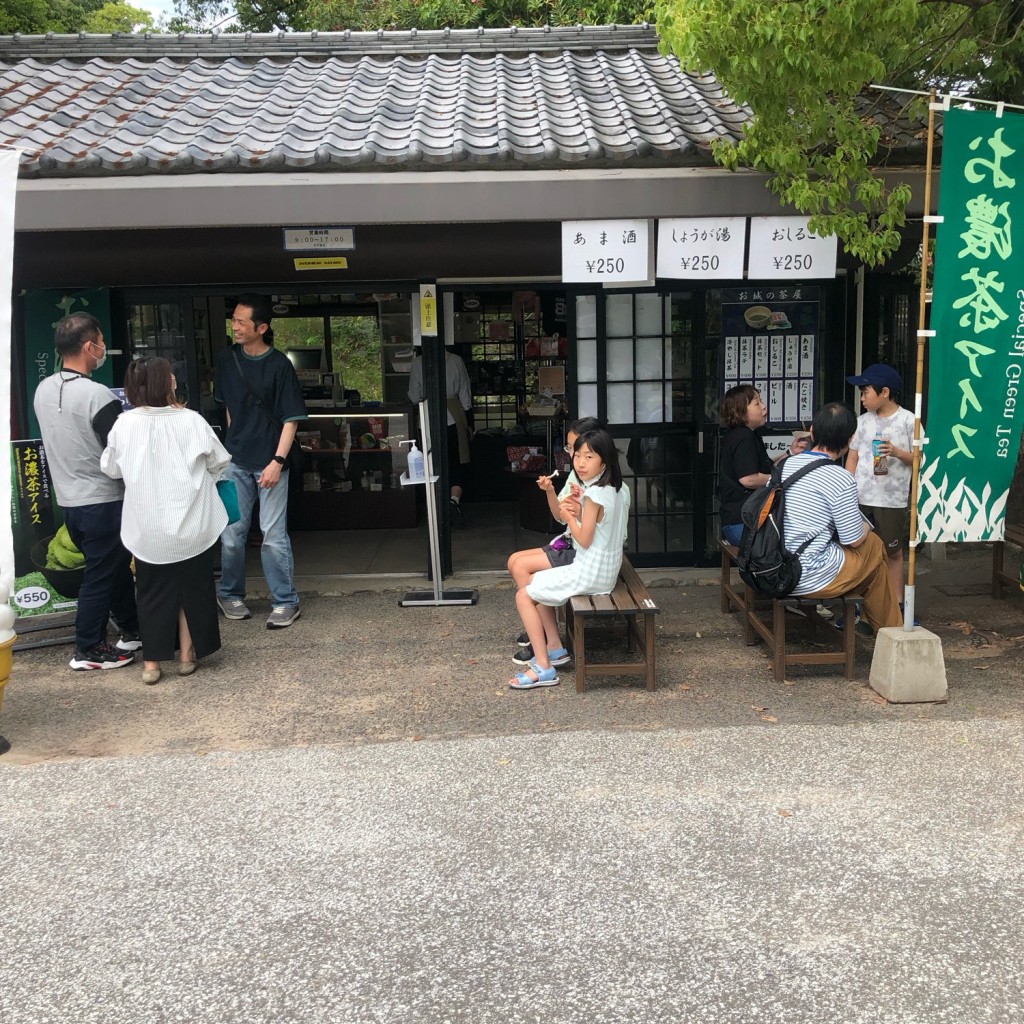
[[[580,284],[653,284],[647,220],[563,220],[562,281]]]

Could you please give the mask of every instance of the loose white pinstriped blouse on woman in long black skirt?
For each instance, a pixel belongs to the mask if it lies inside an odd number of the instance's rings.
[[[206,551],[227,525],[216,481],[230,461],[199,413],[166,407],[119,416],[100,467],[125,481],[124,546],[153,565]]]

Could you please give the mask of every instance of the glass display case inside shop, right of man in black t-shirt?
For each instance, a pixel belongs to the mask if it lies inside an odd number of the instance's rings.
[[[415,526],[415,487],[399,478],[408,462],[409,410],[393,406],[311,412],[296,438],[305,454],[301,501],[290,510],[295,529],[384,529]],[[297,488],[296,488],[297,490]]]

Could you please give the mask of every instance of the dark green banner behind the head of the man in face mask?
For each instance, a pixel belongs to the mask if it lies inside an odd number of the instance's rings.
[[[112,348],[111,293],[105,288],[58,291],[34,290],[25,297],[25,373],[28,395],[29,434],[39,436],[39,424],[32,408],[39,382],[55,373],[59,366],[53,348],[53,329],[57,321],[69,313],[92,313],[103,329],[103,336]],[[93,374],[100,384],[114,383],[114,368],[110,359]]]

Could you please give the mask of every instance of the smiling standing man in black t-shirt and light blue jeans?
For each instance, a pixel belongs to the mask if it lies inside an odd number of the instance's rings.
[[[234,307],[234,345],[217,361],[214,397],[227,407],[224,446],[231,453],[228,475],[239,490],[242,518],[221,535],[217,603],[228,618],[250,618],[246,606],[246,539],[259,502],[263,531],[260,557],[270,591],[269,630],[299,617],[292,542],[288,536],[288,454],[299,420],[306,418],[302,389],[291,362],[272,347],[269,300],[243,295]]]

